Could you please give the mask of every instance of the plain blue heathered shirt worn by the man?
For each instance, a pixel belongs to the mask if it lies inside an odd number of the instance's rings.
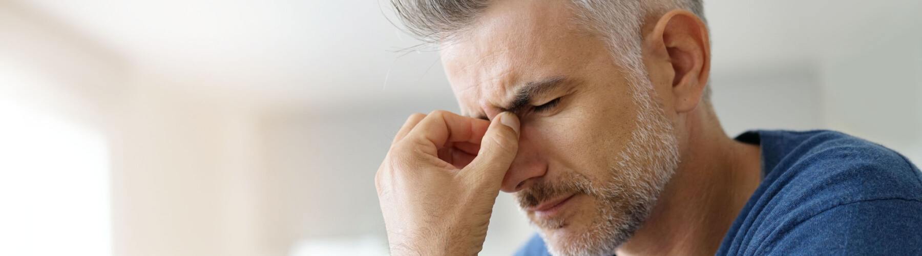
[[[831,131],[753,131],[762,183],[717,255],[922,255],[922,172]],[[538,236],[515,255],[549,255]]]

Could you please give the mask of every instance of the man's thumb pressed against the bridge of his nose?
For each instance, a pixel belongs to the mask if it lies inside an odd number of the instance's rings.
[[[518,153],[519,119],[512,112],[496,115],[487,134],[480,141],[477,157],[467,165],[468,173],[485,180],[502,182],[506,170],[512,165]]]

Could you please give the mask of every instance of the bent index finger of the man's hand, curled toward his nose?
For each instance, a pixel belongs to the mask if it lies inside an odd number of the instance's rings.
[[[489,121],[461,116],[449,111],[432,111],[401,140],[408,146],[438,156],[438,148],[448,142],[479,144],[490,126]]]

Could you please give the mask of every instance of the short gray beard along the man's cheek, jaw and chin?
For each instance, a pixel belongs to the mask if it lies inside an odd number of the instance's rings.
[[[644,79],[645,80],[645,79]],[[546,241],[552,255],[612,255],[634,232],[643,226],[656,205],[660,192],[679,166],[679,145],[672,123],[662,104],[655,100],[649,80],[632,87],[634,103],[639,107],[638,127],[631,141],[619,152],[619,161],[611,167],[612,175],[595,186],[585,177],[573,174],[574,181],[562,184],[569,190],[585,192],[596,199],[597,219],[584,233],[564,240],[549,240],[545,230],[566,225],[563,219],[532,221]],[[643,81],[642,81],[643,83]],[[637,91],[638,88],[649,88]],[[520,204],[522,200],[520,198]],[[524,205],[524,204],[523,204]]]

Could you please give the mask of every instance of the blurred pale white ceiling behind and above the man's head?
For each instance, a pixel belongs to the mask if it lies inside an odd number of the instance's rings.
[[[5,1],[57,19],[122,56],[138,79],[163,86],[282,104],[451,99],[437,52],[400,51],[419,41],[389,21],[386,0]],[[810,66],[842,41],[920,6],[910,0],[705,1],[713,72]]]

